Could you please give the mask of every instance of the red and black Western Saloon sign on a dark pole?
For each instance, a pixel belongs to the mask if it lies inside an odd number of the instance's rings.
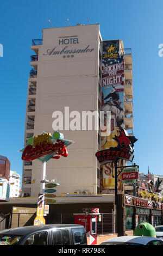
[[[115,162],[118,159],[133,161],[134,159],[134,142],[137,139],[134,136],[128,136],[126,130],[121,130],[120,135],[113,138],[117,141],[117,147],[110,147],[109,149],[101,150],[96,153],[99,163],[106,164],[108,162]]]

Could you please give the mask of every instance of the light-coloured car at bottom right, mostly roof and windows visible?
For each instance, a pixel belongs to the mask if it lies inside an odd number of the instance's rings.
[[[150,236],[118,236],[108,239],[100,245],[163,245],[163,241]]]

